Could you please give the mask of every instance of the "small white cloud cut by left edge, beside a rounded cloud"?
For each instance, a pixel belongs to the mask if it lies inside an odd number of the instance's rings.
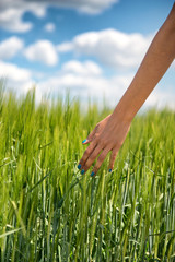
[[[22,50],[24,43],[12,36],[0,43],[0,59],[5,60],[14,57],[20,50]]]

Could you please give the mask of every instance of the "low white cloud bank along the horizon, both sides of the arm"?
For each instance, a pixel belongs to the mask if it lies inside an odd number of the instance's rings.
[[[33,78],[36,73],[38,72],[31,72],[0,61],[0,78],[7,79],[7,87],[13,88],[18,95],[25,94],[33,87]],[[54,97],[62,95],[63,98],[67,90],[70,90],[71,97],[79,97],[84,108],[88,106],[89,97],[98,103],[101,107],[105,97],[107,106],[114,108],[128,88],[133,74],[125,73],[106,78],[98,64],[92,61],[73,60],[65,63],[54,76],[45,80],[44,78],[46,75],[43,75],[43,80],[40,79],[36,85],[37,103],[42,100],[44,94],[51,93]],[[173,86],[166,86],[166,90],[163,90],[161,85],[156,86],[141,110],[152,106],[162,108],[165,105],[175,110],[173,91]]]

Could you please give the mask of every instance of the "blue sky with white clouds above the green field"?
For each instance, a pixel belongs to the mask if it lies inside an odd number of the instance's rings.
[[[0,0],[0,76],[18,94],[115,106],[173,0]],[[175,108],[175,62],[144,107]]]

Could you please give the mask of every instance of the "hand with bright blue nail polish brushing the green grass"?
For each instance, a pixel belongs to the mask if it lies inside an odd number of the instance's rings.
[[[117,153],[127,136],[130,124],[131,121],[125,121],[119,117],[119,114],[118,116],[112,114],[96,124],[95,129],[83,142],[83,144],[90,143],[90,145],[85,150],[78,166],[82,175],[89,170],[100,155],[91,174],[92,177],[95,176],[109,151],[112,151],[112,155],[108,170],[113,170]]]

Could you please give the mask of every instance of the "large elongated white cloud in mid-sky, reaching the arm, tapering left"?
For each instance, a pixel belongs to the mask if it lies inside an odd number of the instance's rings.
[[[151,38],[141,34],[105,29],[78,35],[71,43],[63,43],[57,49],[59,52],[73,51],[78,56],[93,56],[104,64],[117,69],[131,69],[141,62]]]

